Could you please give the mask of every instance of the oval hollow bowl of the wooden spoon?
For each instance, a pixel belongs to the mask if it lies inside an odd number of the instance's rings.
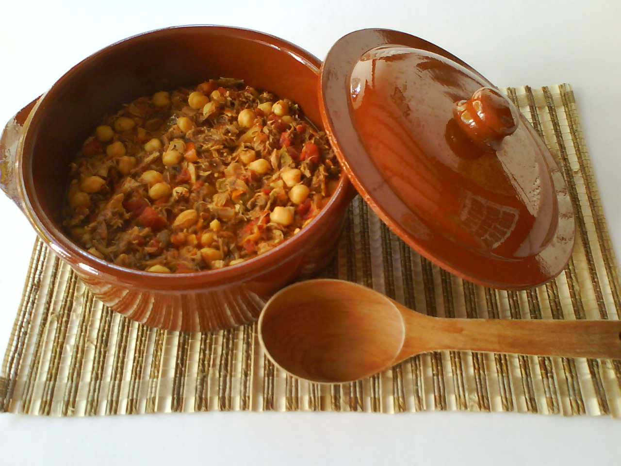
[[[406,336],[390,299],[338,280],[302,281],[279,291],[263,309],[259,328],[277,365],[321,382],[369,377],[392,365]]]

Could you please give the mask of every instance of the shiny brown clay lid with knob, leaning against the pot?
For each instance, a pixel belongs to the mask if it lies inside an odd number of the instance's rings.
[[[524,289],[574,242],[563,176],[522,114],[442,48],[366,29],[332,47],[320,106],[343,169],[401,239],[455,275]]]

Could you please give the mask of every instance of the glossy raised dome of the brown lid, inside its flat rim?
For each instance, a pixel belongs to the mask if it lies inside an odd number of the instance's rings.
[[[502,258],[548,245],[556,229],[548,167],[517,109],[491,85],[440,55],[404,47],[365,53],[350,84],[369,157],[424,222],[461,247]]]

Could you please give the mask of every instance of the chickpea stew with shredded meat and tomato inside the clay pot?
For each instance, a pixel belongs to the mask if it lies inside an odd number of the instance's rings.
[[[71,164],[63,226],[123,267],[226,267],[298,232],[339,175],[325,135],[297,104],[209,80],[106,117]]]

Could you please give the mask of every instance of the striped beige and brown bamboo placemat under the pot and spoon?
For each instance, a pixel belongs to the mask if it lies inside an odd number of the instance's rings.
[[[566,270],[530,291],[473,285],[417,255],[356,198],[325,276],[435,316],[619,319],[620,285],[569,85],[507,88],[568,181],[578,237]],[[171,411],[518,411],[621,417],[621,360],[434,352],[347,385],[279,372],[256,325],[166,332],[114,313],[37,240],[0,376],[0,411],[52,416]]]

